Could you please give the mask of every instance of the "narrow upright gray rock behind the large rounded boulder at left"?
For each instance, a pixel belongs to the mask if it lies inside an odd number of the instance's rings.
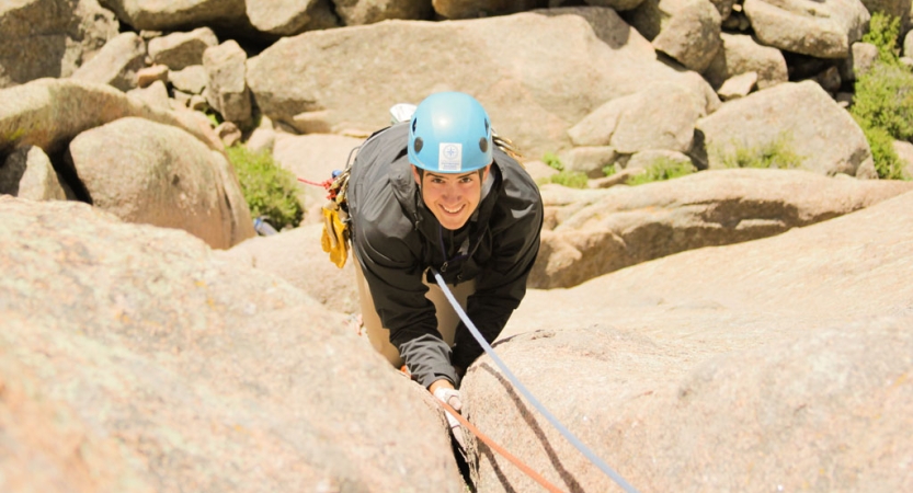
[[[251,92],[244,78],[247,59],[247,54],[235,39],[207,48],[203,54],[206,101],[222,118],[241,128],[252,123]]]

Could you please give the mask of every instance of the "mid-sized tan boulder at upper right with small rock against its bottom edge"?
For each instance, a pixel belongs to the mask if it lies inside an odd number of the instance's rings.
[[[722,49],[707,67],[704,77],[714,88],[747,72],[757,73],[757,89],[787,82],[786,58],[777,48],[764,46],[746,34],[720,34]]]

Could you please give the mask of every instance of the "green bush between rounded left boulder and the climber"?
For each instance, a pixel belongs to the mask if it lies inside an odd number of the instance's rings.
[[[243,146],[233,146],[227,151],[251,215],[255,218],[266,216],[277,230],[298,226],[305,213],[298,200],[295,175],[276,164],[269,152],[254,153]]]

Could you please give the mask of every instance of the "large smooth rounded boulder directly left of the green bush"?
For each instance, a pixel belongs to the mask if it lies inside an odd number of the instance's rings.
[[[180,128],[119,118],[78,135],[67,158],[91,204],[125,221],[183,229],[214,249],[254,236],[226,157]]]

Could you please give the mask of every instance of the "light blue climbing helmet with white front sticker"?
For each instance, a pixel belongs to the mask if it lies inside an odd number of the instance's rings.
[[[438,92],[409,122],[409,162],[437,173],[466,173],[491,164],[491,121],[475,98]]]

